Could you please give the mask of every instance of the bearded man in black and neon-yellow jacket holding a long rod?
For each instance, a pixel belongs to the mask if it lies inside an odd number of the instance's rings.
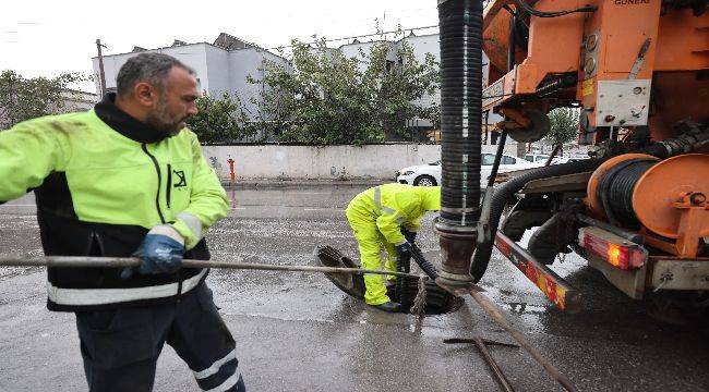
[[[245,391],[236,343],[205,283],[206,230],[226,194],[184,121],[194,71],[161,53],[128,60],[94,110],[0,132],[0,204],[34,189],[48,256],[140,257],[120,268],[48,268],[47,307],[76,314],[91,391],[151,391],[165,342],[203,390]]]

